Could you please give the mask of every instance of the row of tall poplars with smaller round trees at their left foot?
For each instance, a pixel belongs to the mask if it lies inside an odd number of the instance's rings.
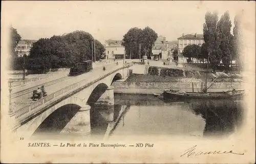
[[[242,66],[241,60],[241,26],[240,17],[236,15],[234,18],[233,35],[231,30],[231,20],[228,11],[221,18],[218,18],[217,12],[207,12],[205,14],[205,23],[203,24],[204,43],[199,45],[188,45],[183,50],[184,57],[188,58],[188,62],[196,58],[197,62],[208,59],[212,69],[215,71],[222,61],[226,70],[229,70],[231,61],[236,61]]]

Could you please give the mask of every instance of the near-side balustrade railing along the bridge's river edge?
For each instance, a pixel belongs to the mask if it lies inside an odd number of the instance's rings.
[[[111,71],[108,74],[106,74],[106,75],[104,75],[100,78],[97,78],[96,80],[93,80],[92,82],[90,82],[88,84],[84,84],[86,82],[86,80],[88,80],[88,79],[83,79],[83,80],[81,80],[81,81],[79,81],[75,84],[72,84],[72,85],[69,85],[65,88],[62,88],[62,89],[60,89],[60,90],[58,90],[58,91],[56,91],[56,92],[54,92],[50,95],[47,95],[44,98],[41,98],[41,99],[23,107],[23,108],[20,108],[19,110],[14,112],[15,114],[13,116],[15,116],[15,120],[17,122],[22,121],[24,118],[26,118],[26,117],[36,113],[37,111],[39,111],[39,108],[38,108],[39,106],[42,106],[42,105],[48,103],[49,101],[51,101],[51,100],[53,100],[57,97],[62,97],[64,95],[67,95],[68,92],[71,93],[71,92],[74,92],[75,90],[80,89],[81,87],[90,86],[90,85],[96,83],[98,80],[101,80],[101,79],[105,78],[106,76],[109,76],[110,74],[112,74],[112,73],[114,73],[118,70],[130,67],[131,65],[132,65],[132,63],[125,63],[123,67],[118,68],[114,71]]]

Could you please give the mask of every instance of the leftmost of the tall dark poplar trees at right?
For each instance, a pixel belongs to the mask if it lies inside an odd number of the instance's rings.
[[[214,72],[221,61],[221,50],[219,47],[220,25],[217,25],[219,23],[218,19],[217,12],[207,12],[205,14],[205,23],[203,24],[204,42],[208,46],[209,52],[209,61],[207,60],[207,62],[211,63]]]

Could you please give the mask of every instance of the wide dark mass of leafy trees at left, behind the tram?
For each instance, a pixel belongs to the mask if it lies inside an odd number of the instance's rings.
[[[50,68],[72,67],[74,63],[92,60],[99,61],[104,46],[93,38],[93,36],[84,31],[75,31],[62,36],[53,36],[51,38],[40,38],[33,43],[30,49],[30,55],[18,58],[15,47],[21,37],[16,29],[11,29],[13,38],[11,47],[11,69],[19,70],[25,68],[38,73],[46,72]],[[94,56],[95,44],[95,56]],[[92,57],[93,52],[93,57]]]

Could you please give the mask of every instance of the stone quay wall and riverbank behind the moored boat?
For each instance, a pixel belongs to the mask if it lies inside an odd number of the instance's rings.
[[[211,80],[207,82],[207,86],[211,84]],[[115,94],[141,94],[152,95],[161,94],[164,89],[182,90],[186,92],[200,92],[201,85],[204,87],[205,83],[198,78],[177,78],[177,77],[162,77],[151,75],[132,75],[125,81],[115,81]],[[218,92],[227,90],[243,90],[243,80],[236,78],[222,78],[216,81],[208,91]]]

